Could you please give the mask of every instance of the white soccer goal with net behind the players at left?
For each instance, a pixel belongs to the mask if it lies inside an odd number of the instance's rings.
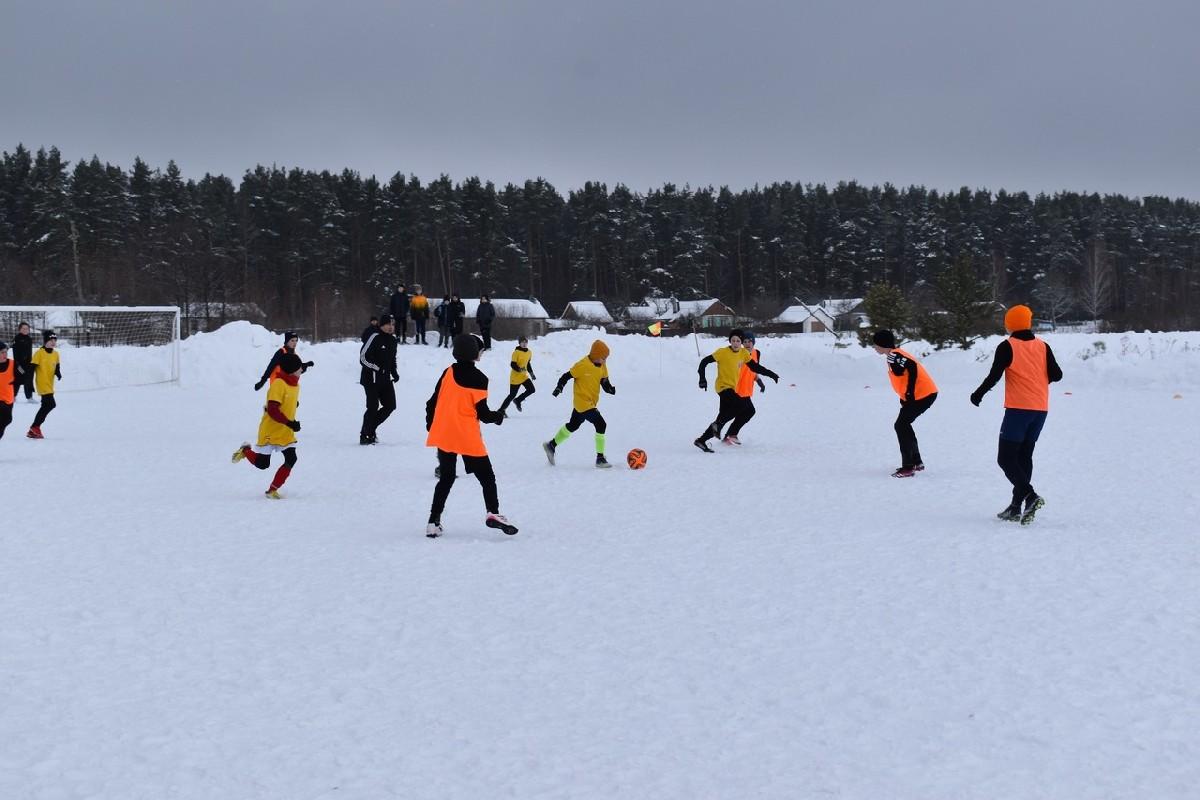
[[[34,349],[54,331],[62,383],[55,392],[179,383],[179,308],[175,306],[0,306],[0,339],[22,323]]]

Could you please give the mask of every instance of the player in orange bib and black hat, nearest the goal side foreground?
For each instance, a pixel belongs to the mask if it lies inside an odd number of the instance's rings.
[[[425,535],[430,539],[442,535],[442,511],[457,477],[458,456],[462,456],[463,469],[474,475],[484,489],[484,505],[487,507],[484,524],[509,536],[517,533],[517,527],[500,513],[496,473],[479,429],[481,422],[504,422],[503,414],[487,408],[487,375],[475,366],[482,344],[478,336],[470,333],[455,337],[451,350],[454,363],[438,378],[433,395],[425,403],[425,429],[430,432],[425,444],[438,449],[438,485],[433,488],[430,522],[425,525]]]

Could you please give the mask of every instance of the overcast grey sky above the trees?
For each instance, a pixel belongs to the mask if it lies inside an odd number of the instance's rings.
[[[1200,0],[0,0],[0,150],[1200,199]]]

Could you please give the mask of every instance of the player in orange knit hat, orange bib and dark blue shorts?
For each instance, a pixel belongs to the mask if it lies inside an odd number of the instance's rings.
[[[1050,384],[1062,380],[1062,369],[1050,345],[1033,335],[1033,312],[1013,306],[1004,314],[1008,338],[996,347],[991,372],[971,395],[979,405],[983,396],[1004,379],[1004,420],[1000,426],[996,463],[1013,485],[1013,500],[996,515],[1022,525],[1033,522],[1045,498],[1033,491],[1033,447],[1050,409]]]

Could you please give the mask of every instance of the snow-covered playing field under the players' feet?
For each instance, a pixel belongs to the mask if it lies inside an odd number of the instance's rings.
[[[95,392],[73,371],[137,365],[65,348],[46,440],[24,401],[0,440],[0,798],[1198,796],[1200,333],[1046,337],[1028,528],[994,517],[1002,387],[967,401],[998,338],[925,359],[912,480],[882,357],[820,336],[760,343],[782,381],[712,456],[692,341],[606,337],[610,457],[649,467],[595,470],[586,426],[551,468],[550,390],[592,338],[535,341],[539,392],[485,427],[521,533],[460,476],[436,541],[446,350],[400,348],[360,447],[356,344],[301,347],[274,503],[274,465],[229,455],[276,335],[194,336],[182,386]]]

